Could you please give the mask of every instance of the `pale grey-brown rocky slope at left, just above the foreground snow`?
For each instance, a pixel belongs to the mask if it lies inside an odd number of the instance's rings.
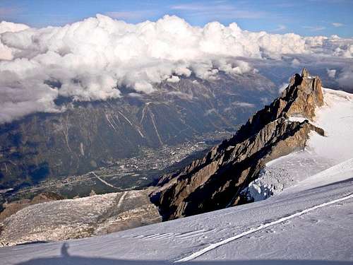
[[[48,201],[1,222],[0,246],[103,235],[161,221],[150,189]]]

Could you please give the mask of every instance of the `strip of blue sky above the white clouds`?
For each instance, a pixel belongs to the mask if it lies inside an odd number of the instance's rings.
[[[177,15],[191,25],[236,22],[244,30],[353,37],[353,0],[0,0],[0,20],[65,25],[102,13],[129,23]]]

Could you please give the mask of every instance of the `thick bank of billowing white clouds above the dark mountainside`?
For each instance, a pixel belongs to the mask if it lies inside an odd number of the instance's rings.
[[[97,15],[64,27],[0,23],[0,123],[33,112],[60,112],[54,100],[119,98],[121,86],[153,93],[154,84],[191,73],[254,71],[246,59],[285,54],[353,57],[353,40],[241,30],[217,22],[193,27],[176,16],[128,24]],[[350,71],[350,69],[349,69]],[[347,78],[341,76],[342,81]]]

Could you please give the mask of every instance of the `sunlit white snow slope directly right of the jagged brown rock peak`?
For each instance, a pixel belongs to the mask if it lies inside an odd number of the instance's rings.
[[[306,177],[352,158],[353,95],[327,88],[323,88],[323,95],[325,105],[316,109],[312,122],[325,131],[325,137],[311,133],[304,151],[267,163],[258,179],[244,189],[247,201],[266,199]]]

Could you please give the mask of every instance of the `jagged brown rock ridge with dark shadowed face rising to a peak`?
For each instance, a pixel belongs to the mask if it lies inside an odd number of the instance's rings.
[[[215,146],[174,175],[165,175],[150,195],[164,220],[214,211],[239,203],[239,192],[270,160],[304,148],[310,131],[323,135],[309,122],[323,105],[321,80],[306,69],[295,74],[280,98],[246,122],[232,139]],[[289,116],[304,117],[291,122]]]

